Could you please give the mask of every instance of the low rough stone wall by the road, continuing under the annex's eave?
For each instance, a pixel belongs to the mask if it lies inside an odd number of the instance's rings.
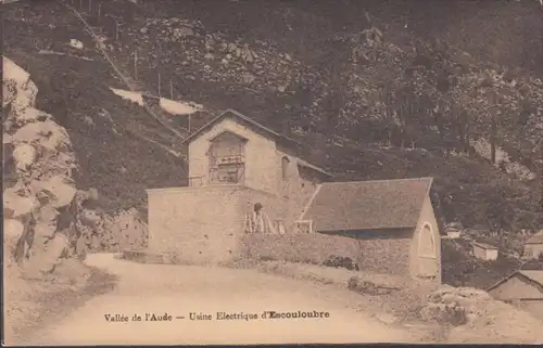
[[[241,239],[240,257],[321,265],[330,256],[350,257],[362,271],[405,275],[409,269],[411,239],[407,232],[367,232],[363,239],[340,235],[247,234]],[[361,257],[362,256],[362,257]]]

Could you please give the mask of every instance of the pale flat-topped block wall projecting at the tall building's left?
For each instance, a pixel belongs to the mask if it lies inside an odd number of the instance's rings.
[[[241,192],[237,185],[149,190],[149,248],[191,265],[227,261],[243,231]]]

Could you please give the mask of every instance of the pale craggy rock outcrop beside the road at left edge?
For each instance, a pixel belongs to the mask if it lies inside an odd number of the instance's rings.
[[[78,253],[77,224],[91,197],[78,192],[75,153],[66,130],[34,107],[38,89],[28,73],[3,57],[3,163],[10,184],[4,189],[5,254],[28,273],[50,273],[63,258]],[[96,194],[94,194],[96,196]],[[79,207],[79,209],[77,209]],[[61,220],[72,217],[73,223]]]

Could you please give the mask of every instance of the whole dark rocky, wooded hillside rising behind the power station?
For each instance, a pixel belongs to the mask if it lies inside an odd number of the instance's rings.
[[[172,153],[187,120],[160,115],[164,126],[110,90],[131,87],[203,105],[193,128],[236,108],[302,140],[340,179],[435,177],[446,221],[543,224],[543,83],[513,59],[489,63],[446,35],[404,33],[370,4],[339,5],[352,12],[339,24],[341,14],[306,11],[304,1],[63,3],[100,44],[62,2],[22,1],[4,5],[4,54],[34,77],[39,108],[73,139],[78,185],[99,188],[106,209],[144,210],[144,189],[187,176]],[[85,49],[68,49],[71,39]]]

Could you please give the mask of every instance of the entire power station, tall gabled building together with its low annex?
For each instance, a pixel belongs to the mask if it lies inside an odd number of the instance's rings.
[[[359,244],[363,268],[441,280],[431,178],[332,182],[294,140],[235,111],[186,143],[188,186],[148,190],[151,249],[216,265],[256,250],[248,236],[289,244],[301,258],[313,244],[320,256]]]

